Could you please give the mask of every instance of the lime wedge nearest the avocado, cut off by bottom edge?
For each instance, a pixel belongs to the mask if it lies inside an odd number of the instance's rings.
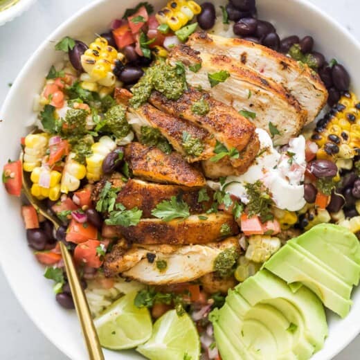
[[[198,360],[199,334],[188,314],[170,310],[156,321],[150,340],[136,350],[150,360]]]

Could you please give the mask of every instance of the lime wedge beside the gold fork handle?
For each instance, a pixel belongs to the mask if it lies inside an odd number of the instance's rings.
[[[135,348],[150,339],[152,321],[146,307],[134,305],[137,291],[133,291],[112,303],[94,323],[100,344],[111,350]]]

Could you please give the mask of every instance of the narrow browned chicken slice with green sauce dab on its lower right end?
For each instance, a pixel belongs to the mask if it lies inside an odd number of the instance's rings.
[[[127,105],[127,101],[132,98],[132,93],[126,89],[116,89],[116,100],[123,105]],[[210,159],[214,155],[215,138],[196,124],[190,123],[188,120],[176,118],[169,114],[165,114],[150,104],[145,104],[138,109],[132,107],[127,108],[127,122],[132,125],[136,134],[141,136],[141,127],[150,126],[159,129],[174,149],[186,158],[188,163]],[[204,146],[201,154],[189,155],[183,147],[183,135],[189,134],[192,138],[199,139]]]

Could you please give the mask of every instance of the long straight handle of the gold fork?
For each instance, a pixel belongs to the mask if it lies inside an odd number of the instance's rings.
[[[89,306],[87,305],[87,300],[80,285],[78,273],[76,272],[71,255],[63,242],[60,242],[60,249],[62,253],[62,259],[64,260],[71,294],[73,295],[75,309],[78,313],[78,318],[82,328],[82,334],[87,345],[87,351],[89,352],[89,359],[105,360],[104,354],[102,354],[102,348],[98,334],[96,332],[95,326],[93,325],[93,319],[91,318]]]

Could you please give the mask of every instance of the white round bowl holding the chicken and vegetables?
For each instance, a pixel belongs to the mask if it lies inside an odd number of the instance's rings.
[[[125,8],[134,7],[136,3],[138,0],[91,3],[57,28],[37,49],[12,85],[1,111],[0,164],[6,163],[9,158],[17,159],[19,155],[20,137],[26,134],[25,126],[34,118],[33,97],[42,89],[50,66],[62,57],[62,53],[54,50],[54,42],[65,35],[84,39],[101,33],[107,30],[112,19],[121,17]],[[160,7],[165,1],[155,0],[152,3]],[[280,35],[314,36],[316,50],[324,53],[327,59],[335,57],[345,64],[351,75],[352,89],[360,94],[360,46],[343,28],[305,0],[258,0],[257,3],[260,19],[273,21]],[[57,305],[51,281],[43,277],[43,267],[37,263],[26,245],[19,200],[6,195],[0,186],[0,204],[0,260],[12,290],[30,318],[50,341],[71,359],[87,359],[75,312],[66,311]],[[313,357],[314,360],[332,359],[360,332],[359,289],[354,291],[352,298],[354,305],[345,319],[329,314],[329,338],[324,349]],[[142,359],[132,351],[105,350],[105,357],[107,360]]]

